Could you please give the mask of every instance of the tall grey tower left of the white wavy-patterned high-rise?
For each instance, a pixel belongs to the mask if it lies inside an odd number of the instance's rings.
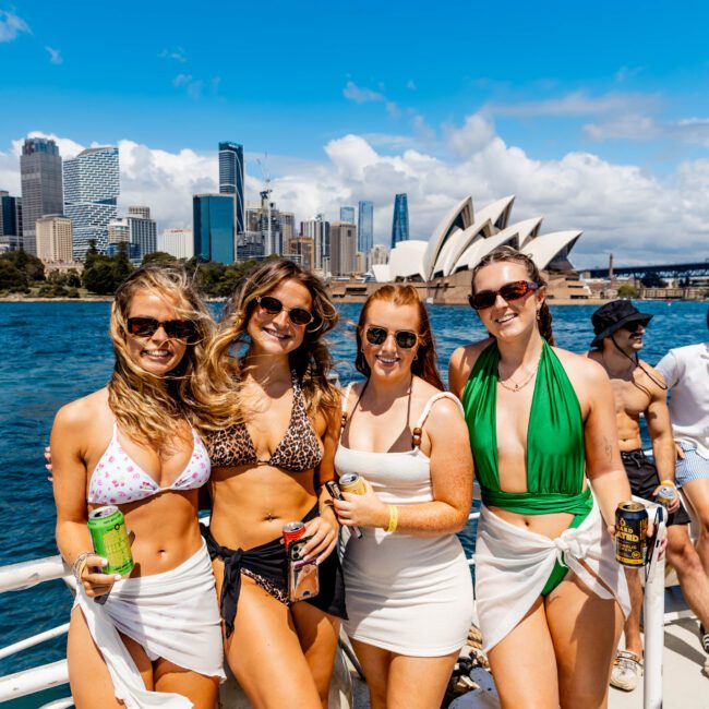
[[[48,214],[62,214],[61,157],[48,137],[28,137],[20,156],[23,249],[37,254],[35,223]]]

